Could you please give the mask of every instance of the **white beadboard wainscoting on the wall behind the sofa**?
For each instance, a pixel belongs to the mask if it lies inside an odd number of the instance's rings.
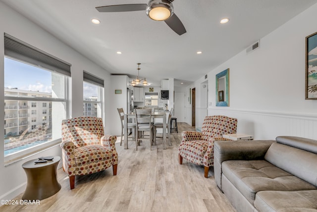
[[[208,115],[237,118],[237,133],[253,135],[255,140],[275,140],[277,136],[298,136],[317,140],[316,114],[208,108]]]

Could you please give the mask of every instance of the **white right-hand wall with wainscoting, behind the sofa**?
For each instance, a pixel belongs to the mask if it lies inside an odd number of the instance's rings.
[[[317,139],[317,100],[305,100],[305,37],[317,31],[316,10],[317,4],[262,38],[259,49],[242,51],[211,70],[208,114],[238,118],[238,133],[255,139]],[[215,74],[227,68],[230,107],[215,107]],[[194,83],[197,98],[202,81]]]

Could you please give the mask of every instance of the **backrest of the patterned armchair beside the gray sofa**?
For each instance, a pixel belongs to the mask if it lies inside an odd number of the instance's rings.
[[[227,116],[207,116],[202,127],[202,140],[237,133],[238,120]]]

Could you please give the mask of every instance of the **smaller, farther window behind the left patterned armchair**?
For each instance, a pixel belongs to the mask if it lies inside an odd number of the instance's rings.
[[[101,118],[103,114],[104,80],[84,71],[83,90],[84,116]]]

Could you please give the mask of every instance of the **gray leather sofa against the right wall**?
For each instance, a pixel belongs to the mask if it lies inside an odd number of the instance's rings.
[[[214,178],[238,212],[317,212],[317,141],[215,141]]]

